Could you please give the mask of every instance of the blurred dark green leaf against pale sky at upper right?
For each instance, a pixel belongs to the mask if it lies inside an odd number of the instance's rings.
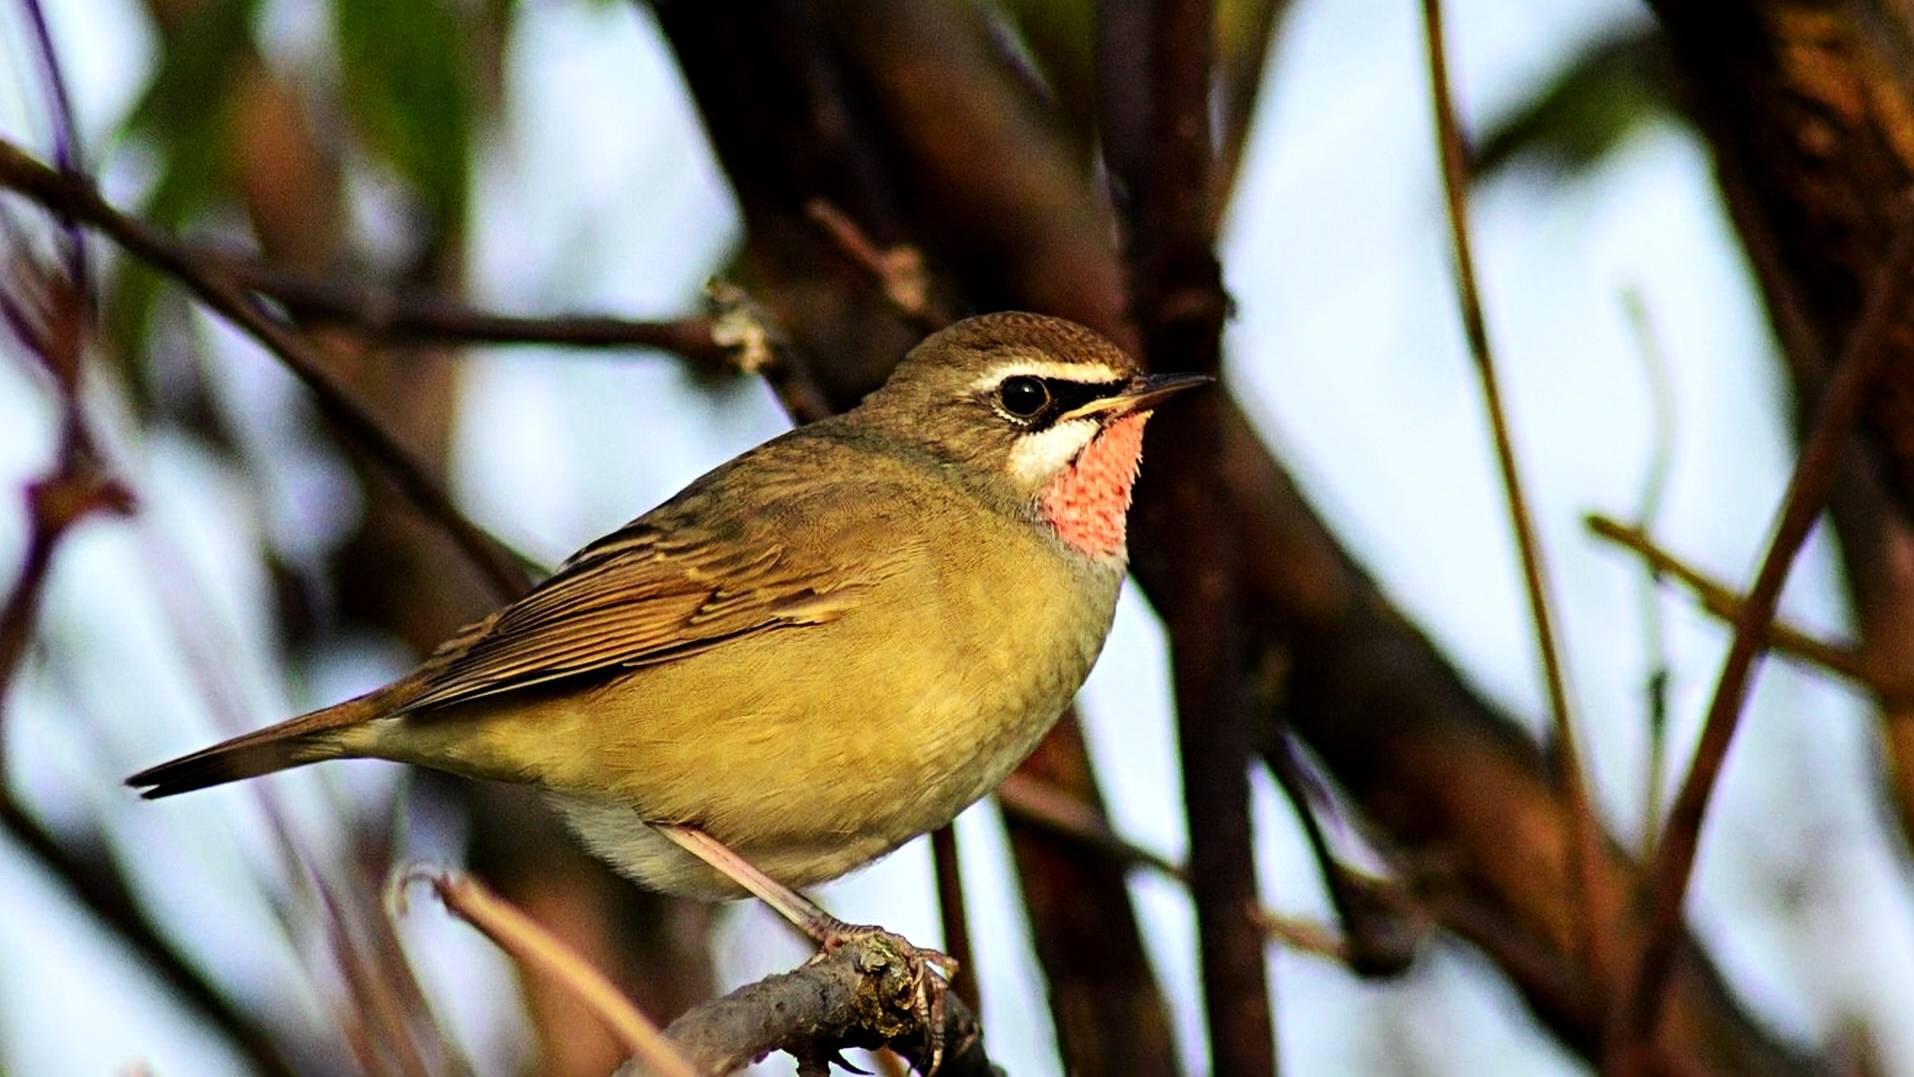
[[[1476,145],[1476,178],[1533,166],[1556,178],[1598,166],[1644,124],[1679,119],[1675,69],[1652,23],[1596,38]]]

